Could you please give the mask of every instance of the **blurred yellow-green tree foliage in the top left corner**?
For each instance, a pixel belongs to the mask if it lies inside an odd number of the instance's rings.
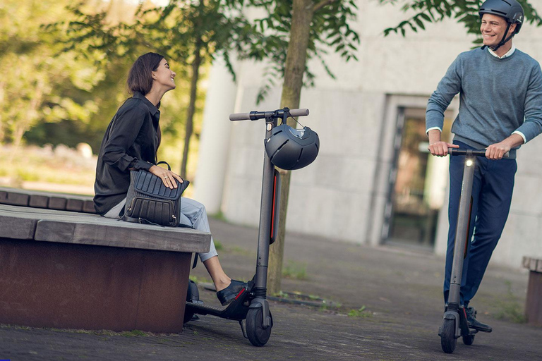
[[[0,144],[16,149],[37,123],[88,123],[97,109],[92,100],[73,97],[74,92],[89,92],[104,77],[94,59],[56,56],[59,44],[40,29],[40,23],[66,18],[67,2],[4,0],[0,6]]]

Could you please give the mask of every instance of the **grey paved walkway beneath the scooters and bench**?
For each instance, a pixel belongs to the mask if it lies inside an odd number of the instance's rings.
[[[216,220],[211,229],[229,276],[250,279],[257,229]],[[173,335],[0,326],[0,360],[542,360],[542,327],[517,323],[528,277],[522,271],[490,265],[471,305],[494,331],[478,334],[471,346],[459,340],[446,355],[437,335],[441,257],[291,233],[285,254],[285,264],[306,271],[306,279],[284,279],[284,291],[340,307],[270,302],[275,326],[263,348],[243,338],[237,322],[202,316]],[[193,274],[208,279],[204,267]],[[200,288],[200,296],[217,304],[208,290]]]

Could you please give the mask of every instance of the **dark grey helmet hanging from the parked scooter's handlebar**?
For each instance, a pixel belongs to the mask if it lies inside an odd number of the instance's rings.
[[[273,128],[265,152],[275,166],[293,171],[311,164],[320,148],[318,134],[311,128],[294,129],[287,124]]]

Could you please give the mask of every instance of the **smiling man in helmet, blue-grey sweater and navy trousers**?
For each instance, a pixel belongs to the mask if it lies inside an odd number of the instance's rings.
[[[474,173],[470,242],[460,294],[469,327],[491,332],[490,326],[476,319],[476,310],[469,303],[476,295],[510,211],[516,151],[542,133],[542,71],[537,61],[512,44],[512,37],[524,23],[523,8],[516,0],[487,0],[478,13],[483,47],[459,54],[448,68],[428,101],[426,129],[428,149],[435,156],[446,156],[449,147],[486,149],[486,158],[477,162]],[[458,93],[459,115],[452,125],[453,144],[449,144],[440,139],[444,112]],[[502,159],[507,152],[508,159]],[[445,304],[450,291],[463,158],[450,159]]]

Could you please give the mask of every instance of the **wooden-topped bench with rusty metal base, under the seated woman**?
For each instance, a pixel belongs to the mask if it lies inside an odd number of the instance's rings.
[[[88,198],[0,189],[0,323],[181,331],[192,253],[210,233],[85,214]]]

